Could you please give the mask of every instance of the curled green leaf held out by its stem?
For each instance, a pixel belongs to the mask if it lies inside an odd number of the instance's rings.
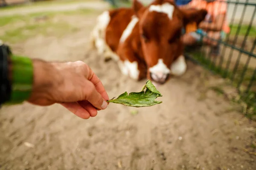
[[[157,97],[161,97],[162,94],[156,89],[150,80],[146,82],[140,92],[127,92],[121,94],[116,99],[108,100],[107,102],[117,103],[131,107],[147,107],[162,103],[162,101],[155,100]]]

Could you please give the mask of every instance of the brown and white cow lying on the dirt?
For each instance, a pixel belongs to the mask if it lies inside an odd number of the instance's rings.
[[[116,59],[122,74],[164,84],[170,75],[186,71],[182,28],[199,24],[205,10],[178,8],[173,0],[154,0],[144,7],[134,0],[132,8],[103,12],[92,33],[92,42],[105,59]]]

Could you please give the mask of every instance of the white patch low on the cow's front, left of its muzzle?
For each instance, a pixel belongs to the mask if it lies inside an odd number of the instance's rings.
[[[125,60],[124,62],[118,61],[118,66],[120,70],[122,71],[122,74],[126,76],[130,76],[132,79],[138,79],[140,75],[140,71],[138,70],[138,62],[130,62],[128,60]]]

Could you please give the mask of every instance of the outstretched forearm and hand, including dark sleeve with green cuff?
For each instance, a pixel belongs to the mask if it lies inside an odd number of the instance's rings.
[[[0,40],[0,105],[24,101],[40,106],[58,103],[88,119],[106,109],[107,100],[102,82],[84,62],[17,57]]]

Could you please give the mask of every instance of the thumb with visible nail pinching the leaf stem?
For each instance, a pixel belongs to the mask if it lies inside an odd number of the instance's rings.
[[[86,100],[98,109],[105,109],[108,103],[103,99],[102,95],[96,90],[92,82],[87,81],[87,89],[85,90]]]

